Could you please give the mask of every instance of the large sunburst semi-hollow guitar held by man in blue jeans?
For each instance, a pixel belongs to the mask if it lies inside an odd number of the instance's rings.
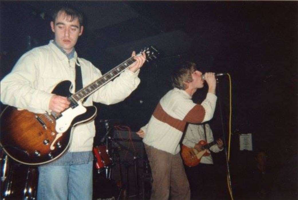
[[[147,61],[158,54],[152,46],[141,52],[145,52]],[[133,57],[128,58],[75,94],[69,93],[69,80],[60,82],[52,94],[67,97],[71,103],[61,113],[36,114],[13,106],[5,107],[0,116],[1,148],[15,161],[27,165],[41,165],[58,159],[68,150],[74,128],[96,117],[96,107],[83,106],[84,100],[134,62]]]

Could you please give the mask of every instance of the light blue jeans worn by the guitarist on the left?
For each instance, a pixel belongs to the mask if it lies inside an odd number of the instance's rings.
[[[91,200],[93,162],[38,167],[38,200]]]

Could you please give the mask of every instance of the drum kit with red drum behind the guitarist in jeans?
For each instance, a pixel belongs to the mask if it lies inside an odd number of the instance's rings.
[[[119,142],[114,141],[113,136],[109,133],[111,129],[106,124],[107,133],[101,140],[100,145],[93,147],[94,154],[94,172],[93,172],[93,199],[127,199],[125,184],[122,179],[122,168],[120,164],[120,156],[117,148],[113,144]],[[105,141],[105,144],[103,144]],[[125,148],[125,147],[123,147]],[[130,151],[130,150],[128,150]],[[148,162],[146,162],[148,164]],[[35,200],[37,196],[38,185],[38,168],[31,165],[23,165],[10,159],[4,151],[0,149],[0,164],[1,164],[1,193],[0,200],[10,199],[26,199]],[[148,166],[146,164],[146,170]],[[114,166],[117,165],[119,170],[119,179],[117,182],[111,178],[111,172]],[[137,165],[135,165],[137,170]],[[137,173],[137,171],[136,171]],[[144,179],[147,177],[150,185],[150,173],[144,174]],[[137,178],[137,177],[136,177]],[[148,185],[147,183],[147,185]],[[146,183],[144,183],[145,186]],[[138,187],[138,185],[136,185]],[[136,197],[139,197],[139,190],[136,190]],[[143,190],[143,198],[148,196],[148,190]],[[150,197],[150,196],[149,196]],[[141,199],[141,198],[138,198]]]

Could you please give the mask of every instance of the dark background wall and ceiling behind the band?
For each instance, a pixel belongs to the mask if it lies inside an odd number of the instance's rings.
[[[64,3],[1,1],[1,79],[23,53],[53,38],[49,13]],[[139,130],[171,89],[173,67],[193,61],[202,72],[231,76],[230,167],[235,195],[241,199],[246,192],[249,174],[243,173],[255,165],[254,152],[263,150],[268,156],[270,199],[297,199],[297,1],[67,3],[85,14],[78,55],[103,73],[129,58],[132,50],[153,45],[160,52],[156,61],[141,69],[141,84],[130,97],[116,105],[96,104],[98,137],[105,133],[101,120]],[[217,108],[210,122],[215,138],[228,133],[227,76],[219,78],[217,88]],[[197,92],[194,100],[203,100],[206,91],[205,87]],[[253,135],[253,152],[239,151],[238,134],[246,133]],[[224,157],[224,152],[215,155],[223,178]]]

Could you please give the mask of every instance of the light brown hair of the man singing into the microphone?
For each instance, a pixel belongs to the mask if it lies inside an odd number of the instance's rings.
[[[172,85],[174,88],[187,89],[184,82],[190,83],[193,81],[191,74],[195,72],[196,64],[190,61],[181,63],[172,74]]]

